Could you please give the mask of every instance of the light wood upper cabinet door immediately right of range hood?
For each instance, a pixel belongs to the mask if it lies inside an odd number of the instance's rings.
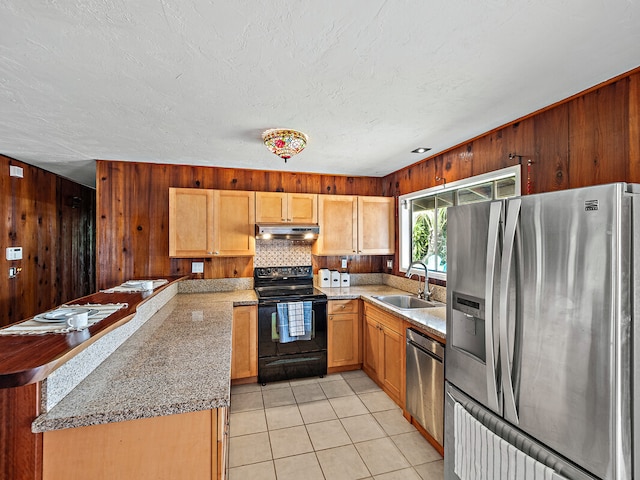
[[[314,255],[353,255],[357,243],[357,197],[318,195],[320,236],[313,244]]]

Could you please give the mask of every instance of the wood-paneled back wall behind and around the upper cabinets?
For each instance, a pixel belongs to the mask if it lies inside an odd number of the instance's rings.
[[[169,187],[335,195],[380,195],[382,189],[382,179],[374,177],[121,161],[98,161],[96,178],[98,288],[129,278],[190,274],[194,259],[169,258]],[[204,278],[253,276],[253,257],[202,260]],[[322,262],[339,265],[333,257]],[[380,257],[350,261],[354,273],[381,266]]]

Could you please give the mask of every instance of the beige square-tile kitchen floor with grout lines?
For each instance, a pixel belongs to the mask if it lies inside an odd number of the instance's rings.
[[[230,480],[442,480],[438,452],[361,370],[231,389]]]

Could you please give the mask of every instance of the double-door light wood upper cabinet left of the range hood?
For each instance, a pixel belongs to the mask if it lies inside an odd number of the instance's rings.
[[[255,254],[255,193],[169,189],[169,256]]]

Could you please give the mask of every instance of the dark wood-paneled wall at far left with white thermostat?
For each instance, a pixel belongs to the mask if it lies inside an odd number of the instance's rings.
[[[0,155],[0,211],[0,326],[95,291],[92,188]],[[6,260],[7,247],[22,247],[22,260]],[[22,271],[10,279],[9,267]]]

